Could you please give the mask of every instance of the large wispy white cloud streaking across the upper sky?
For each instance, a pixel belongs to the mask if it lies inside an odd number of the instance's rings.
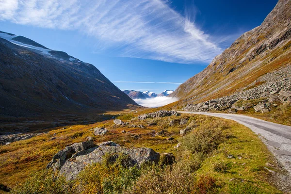
[[[0,20],[77,30],[122,57],[191,64],[222,52],[167,0],[0,0]]]

